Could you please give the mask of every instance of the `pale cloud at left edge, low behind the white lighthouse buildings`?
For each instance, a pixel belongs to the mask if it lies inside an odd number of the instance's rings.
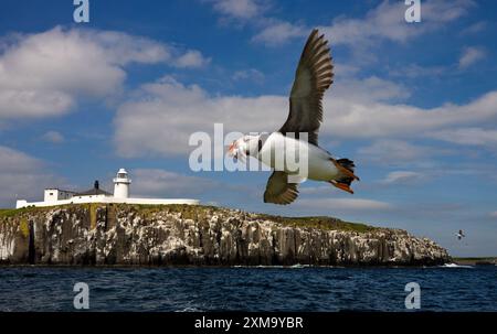
[[[15,196],[40,200],[43,187],[61,184],[60,177],[44,172],[43,161],[11,148],[0,146],[0,205],[13,207]]]

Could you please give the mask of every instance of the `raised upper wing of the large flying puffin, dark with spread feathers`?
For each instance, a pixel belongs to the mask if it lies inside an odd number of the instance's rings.
[[[294,132],[295,137],[299,132],[308,132],[308,141],[318,144],[318,131],[322,121],[321,99],[334,82],[332,71],[328,41],[315,29],[304,46],[289,97],[288,119],[279,132]]]

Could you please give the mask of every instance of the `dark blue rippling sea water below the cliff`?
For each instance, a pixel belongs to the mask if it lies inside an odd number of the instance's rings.
[[[497,311],[497,267],[53,268],[0,267],[0,311],[74,311],[76,282],[91,311]]]

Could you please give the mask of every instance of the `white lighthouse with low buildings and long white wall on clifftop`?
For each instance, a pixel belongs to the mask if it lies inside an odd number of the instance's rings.
[[[127,204],[199,204],[198,200],[189,198],[139,198],[129,197],[131,180],[125,169],[120,169],[114,179],[114,194],[101,190],[98,181],[93,188],[85,192],[64,191],[60,188],[45,188],[43,202],[18,200],[15,208],[27,206],[53,206],[82,203],[127,203]]]

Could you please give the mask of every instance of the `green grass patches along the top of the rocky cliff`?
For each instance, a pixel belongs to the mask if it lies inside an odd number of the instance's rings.
[[[95,204],[92,204],[95,206]],[[105,205],[105,204],[102,204]],[[88,206],[88,204],[73,204],[73,205],[65,205],[65,207],[74,207],[74,206]],[[156,212],[167,209],[172,212],[180,212],[183,217],[191,218],[191,219],[202,219],[211,212],[223,212],[226,211],[225,208],[220,208],[215,206],[203,206],[203,205],[125,205],[125,204],[118,204],[118,206],[127,206],[133,207],[140,214],[144,214],[146,216],[151,215]],[[3,217],[14,217],[20,216],[23,213],[34,213],[34,212],[46,212],[49,209],[52,209],[53,207],[28,207],[28,208],[21,208],[21,209],[8,209],[8,208],[0,208],[0,219]],[[364,224],[358,224],[358,223],[349,223],[349,222],[342,222],[337,218],[331,217],[282,217],[282,216],[272,216],[272,215],[264,215],[264,214],[257,214],[256,217],[260,217],[262,219],[269,219],[277,222],[282,225],[286,226],[293,226],[293,227],[315,227],[320,229],[334,229],[334,230],[350,230],[350,231],[357,231],[357,233],[366,233],[370,230],[377,229],[377,227],[364,225]]]

